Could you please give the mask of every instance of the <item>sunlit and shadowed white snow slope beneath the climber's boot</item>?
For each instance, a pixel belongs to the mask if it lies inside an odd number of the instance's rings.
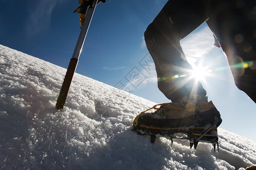
[[[256,143],[219,129],[220,152],[131,131],[154,105],[75,74],[63,111],[55,109],[66,70],[0,45],[1,169],[238,169],[256,164]]]

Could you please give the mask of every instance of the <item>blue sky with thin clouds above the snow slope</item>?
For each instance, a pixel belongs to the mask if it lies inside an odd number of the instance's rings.
[[[156,103],[170,102],[157,88],[143,40],[147,25],[166,2],[107,0],[98,5],[76,73]],[[80,33],[79,14],[72,13],[78,6],[78,0],[0,0],[0,44],[67,68]],[[207,67],[201,81],[221,112],[220,127],[256,141],[256,105],[236,88],[228,61],[213,42],[204,23],[181,46],[192,66]]]

